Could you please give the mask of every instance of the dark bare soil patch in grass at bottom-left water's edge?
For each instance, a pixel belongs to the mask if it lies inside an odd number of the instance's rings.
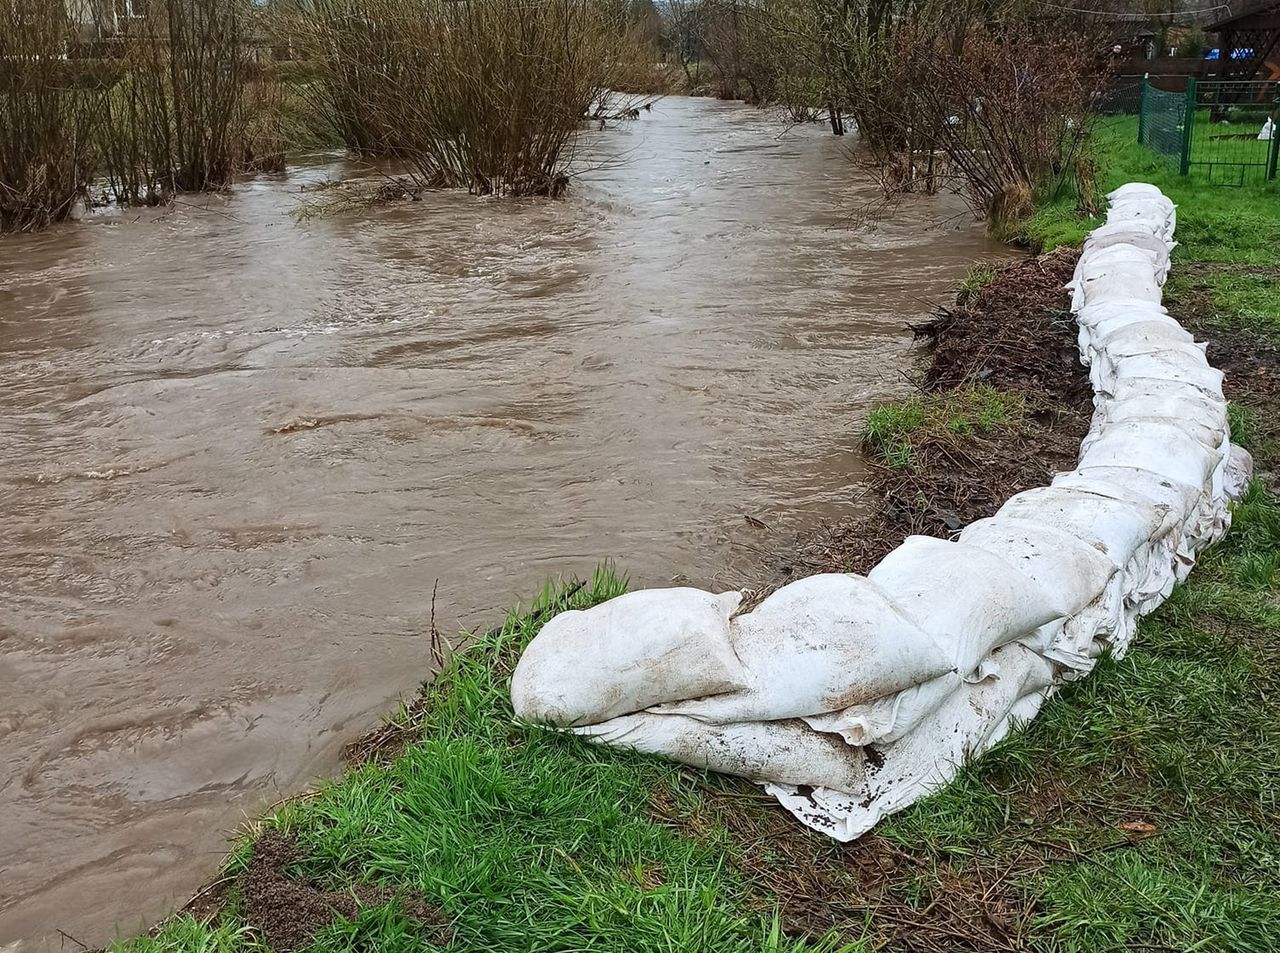
[[[244,921],[276,953],[293,953],[339,917],[355,920],[361,910],[392,901],[422,924],[431,943],[439,947],[449,943],[448,920],[420,894],[371,884],[326,890],[285,871],[298,860],[301,857],[292,840],[280,831],[266,830],[253,844],[253,857],[239,879]]]

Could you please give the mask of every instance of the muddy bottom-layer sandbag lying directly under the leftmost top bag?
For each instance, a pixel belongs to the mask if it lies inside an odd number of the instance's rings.
[[[643,711],[573,729],[602,744],[755,782],[856,791],[864,784],[861,748],[804,721],[710,724],[684,715]]]

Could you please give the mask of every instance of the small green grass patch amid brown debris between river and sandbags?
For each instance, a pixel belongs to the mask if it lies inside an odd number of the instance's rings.
[[[1016,426],[1025,416],[1021,395],[973,384],[873,408],[863,441],[884,464],[904,469],[915,462],[915,448],[924,441],[992,434]]]

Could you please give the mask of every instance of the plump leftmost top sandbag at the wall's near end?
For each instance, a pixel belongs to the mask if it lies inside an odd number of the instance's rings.
[[[627,592],[561,613],[530,642],[511,679],[516,715],[553,725],[603,721],[677,698],[741,688],[730,643],[739,592]]]

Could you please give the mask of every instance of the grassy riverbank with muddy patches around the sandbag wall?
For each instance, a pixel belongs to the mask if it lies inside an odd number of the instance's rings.
[[[1280,948],[1280,507],[1266,489],[1280,198],[1185,187],[1119,136],[1107,150],[1110,182],[1152,180],[1180,205],[1169,303],[1228,368],[1235,437],[1263,471],[1226,542],[1143,622],[1124,661],[1103,661],[946,791],[841,846],[748,784],[512,723],[520,647],[556,611],[623,588],[599,572],[548,588],[453,659],[358,748],[360,766],[265,819],[189,913],[118,949]],[[1064,205],[1029,230],[1060,244],[1089,226]],[[1004,307],[1021,324],[1001,340],[1065,359],[1066,266],[975,278],[961,326],[937,334],[963,340],[965,321]],[[1039,297],[1018,297],[1036,270]],[[923,482],[938,461],[980,482],[992,459],[1029,459],[1046,435],[1075,432],[1082,379],[1066,367],[1043,393],[986,357],[997,372],[955,390],[943,357],[936,348],[936,395],[878,412],[869,436],[888,491],[927,485],[929,518],[945,521],[973,481]],[[923,518],[910,512],[918,495],[890,503]]]

